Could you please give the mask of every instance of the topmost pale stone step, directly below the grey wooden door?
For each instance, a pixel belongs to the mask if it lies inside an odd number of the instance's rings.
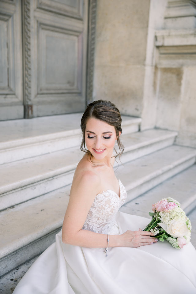
[[[0,122],[0,164],[80,145],[82,113]],[[122,116],[123,133],[137,132],[140,118]]]

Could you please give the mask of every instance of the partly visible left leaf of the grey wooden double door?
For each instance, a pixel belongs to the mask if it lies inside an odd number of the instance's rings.
[[[0,1],[0,120],[24,116],[20,1]]]

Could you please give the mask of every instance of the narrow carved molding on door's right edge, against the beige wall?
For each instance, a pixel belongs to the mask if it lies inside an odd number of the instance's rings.
[[[87,86],[86,102],[92,102],[93,97],[93,74],[94,74],[94,55],[95,55],[95,33],[96,33],[96,0],[89,1],[89,43],[87,60]]]

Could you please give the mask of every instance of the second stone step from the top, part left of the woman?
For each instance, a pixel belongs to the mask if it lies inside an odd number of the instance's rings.
[[[81,153],[77,147],[1,165],[1,209],[69,185]]]

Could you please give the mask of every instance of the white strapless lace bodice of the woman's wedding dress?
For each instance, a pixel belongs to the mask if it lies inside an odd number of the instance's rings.
[[[107,190],[96,195],[86,217],[83,229],[103,234],[119,233],[115,216],[126,200],[126,190],[120,180],[119,187],[120,197],[112,190]]]

